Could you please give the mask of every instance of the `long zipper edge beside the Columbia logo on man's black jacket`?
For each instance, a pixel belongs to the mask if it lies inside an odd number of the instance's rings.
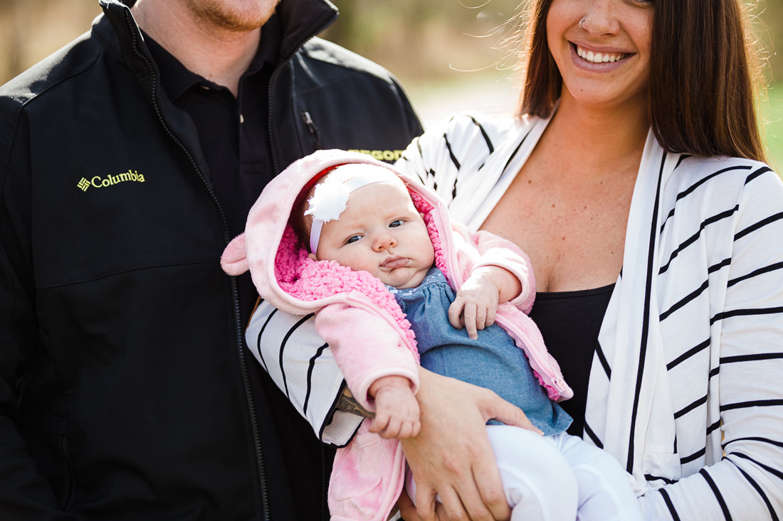
[[[181,141],[179,141],[179,138],[177,138],[173,132],[168,128],[168,124],[166,124],[166,121],[163,118],[163,115],[161,114],[160,107],[157,105],[157,76],[155,75],[155,70],[150,63],[150,60],[146,58],[141,52],[139,52],[139,49],[137,47],[137,34],[135,31],[135,21],[132,19],[132,16],[130,14],[130,9],[125,10],[125,21],[128,23],[128,29],[130,30],[130,34],[132,36],[133,40],[133,50],[135,51],[136,55],[139,56],[140,59],[143,60],[143,62],[146,64],[147,69],[150,71],[150,74],[152,76],[152,102],[153,107],[155,109],[155,114],[157,115],[158,120],[161,121],[161,124],[163,125],[163,128],[165,129],[166,133],[171,137],[171,139],[174,140],[174,142],[179,146],[179,148],[182,149],[183,152],[185,152],[186,156],[190,160],[190,164],[193,166],[193,169],[197,172],[199,177],[201,178],[201,181],[204,182],[204,186],[207,187],[207,190],[209,191],[210,195],[212,196],[212,200],[215,201],[215,206],[218,207],[218,212],[220,214],[220,221],[222,224],[222,231],[223,231],[223,238],[226,240],[226,244],[229,243],[230,234],[228,230],[228,225],[226,225],[226,214],[223,212],[222,207],[220,206],[220,203],[218,201],[218,198],[215,196],[215,192],[212,190],[211,186],[209,185],[209,182],[207,181],[207,178],[204,177],[204,173],[200,170],[198,167],[196,160],[193,159],[193,155],[190,153],[190,151],[187,149],[185,145],[182,144]],[[271,85],[271,84],[270,84]],[[270,89],[271,91],[271,89]],[[270,117],[270,125],[271,127],[271,117]],[[266,487],[266,473],[264,468],[264,455],[262,453],[262,447],[261,447],[261,435],[258,432],[258,413],[255,410],[255,404],[253,401],[253,395],[251,392],[251,384],[250,384],[250,377],[247,373],[247,360],[245,359],[244,349],[243,347],[243,331],[241,322],[242,319],[240,317],[240,304],[239,304],[239,290],[236,286],[236,279],[231,278],[231,293],[233,296],[233,308],[234,308],[234,325],[236,327],[236,340],[237,340],[237,347],[238,347],[238,353],[239,353],[239,359],[240,359],[240,368],[242,371],[242,379],[244,382],[245,387],[245,397],[247,399],[247,405],[248,408],[250,408],[251,413],[251,424],[253,426],[253,436],[255,441],[255,451],[256,451],[256,458],[258,462],[258,479],[261,482],[261,491],[262,491],[262,506],[264,508],[264,519],[266,521],[271,521],[270,515],[269,515],[269,491]]]

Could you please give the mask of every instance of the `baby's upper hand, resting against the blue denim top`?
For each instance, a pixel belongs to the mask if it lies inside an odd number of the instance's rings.
[[[467,336],[478,338],[478,329],[495,323],[500,288],[493,278],[492,267],[475,269],[449,306],[449,322],[456,329],[465,326]]]

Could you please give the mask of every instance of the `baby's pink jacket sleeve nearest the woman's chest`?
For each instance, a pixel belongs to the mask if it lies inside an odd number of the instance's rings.
[[[530,259],[525,252],[511,241],[490,232],[483,230],[471,232],[459,223],[453,223],[452,228],[455,235],[458,235],[473,250],[472,255],[460,254],[458,243],[457,258],[460,261],[460,269],[466,277],[472,270],[482,266],[499,266],[511,271],[519,279],[522,290],[510,302],[521,311],[529,313],[533,300],[536,299],[536,275],[533,274]]]

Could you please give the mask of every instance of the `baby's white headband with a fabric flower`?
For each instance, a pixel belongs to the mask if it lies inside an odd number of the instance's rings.
[[[321,239],[323,223],[339,221],[340,215],[348,207],[348,196],[351,192],[373,183],[390,182],[388,179],[379,178],[376,174],[362,173],[348,181],[341,182],[327,180],[316,185],[316,191],[308,200],[309,208],[305,215],[312,215],[312,227],[310,228],[310,251],[318,251],[318,243]]]

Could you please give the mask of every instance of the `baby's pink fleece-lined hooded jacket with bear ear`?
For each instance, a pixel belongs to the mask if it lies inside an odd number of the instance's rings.
[[[435,194],[365,154],[319,151],[274,178],[251,208],[244,234],[223,253],[226,273],[240,275],[249,269],[258,293],[270,304],[291,314],[316,312],[319,335],[329,343],[348,388],[368,410],[373,410],[373,403],[367,390],[381,376],[405,376],[416,392],[416,340],[394,296],[366,271],[309,259],[288,225],[291,209],[305,187],[323,171],[345,163],[384,167],[406,182],[414,204],[424,214],[435,247],[435,265],[454,288],[474,268],[485,265],[500,266],[518,276],[522,291],[511,302],[500,304],[496,323],[525,350],[550,398],[571,397],[572,390],[547,353],[538,328],[521,312],[529,312],[536,288],[525,254],[496,235],[470,232],[450,223],[445,205]],[[399,441],[370,433],[369,424],[365,420],[352,442],[337,451],[329,486],[331,519],[383,521],[402,491],[405,459]]]

